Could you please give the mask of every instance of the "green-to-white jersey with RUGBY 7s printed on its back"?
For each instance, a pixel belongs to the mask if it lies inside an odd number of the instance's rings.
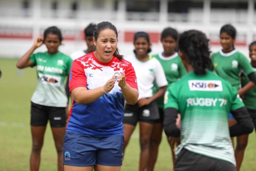
[[[164,108],[177,109],[181,115],[182,148],[236,165],[228,127],[230,111],[244,107],[229,82],[207,71],[190,72],[171,84],[165,94]]]

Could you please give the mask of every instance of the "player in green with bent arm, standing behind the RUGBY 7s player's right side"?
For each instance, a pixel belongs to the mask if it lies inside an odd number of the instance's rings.
[[[229,81],[233,87],[236,87],[236,90],[239,96],[243,96],[246,92],[252,89],[256,84],[256,77],[253,73],[253,69],[247,60],[247,58],[238,52],[234,43],[236,40],[236,29],[230,25],[224,25],[220,30],[220,43],[222,49],[214,53],[212,58],[212,64],[215,72],[225,80]],[[241,87],[241,79],[240,74],[243,71],[246,75],[248,75],[250,81]],[[230,125],[235,122],[232,114],[230,113]],[[237,137],[237,145],[235,150],[237,169],[239,171],[243,157],[244,151],[247,146],[248,135],[243,135]]]

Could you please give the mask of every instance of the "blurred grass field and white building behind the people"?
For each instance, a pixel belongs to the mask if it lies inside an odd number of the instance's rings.
[[[160,32],[167,26],[178,32],[199,29],[209,38],[212,52],[221,49],[219,31],[231,23],[238,35],[235,47],[248,57],[248,44],[256,40],[256,0],[0,0],[0,171],[28,171],[32,147],[30,99],[37,85],[34,68],[19,70],[20,58],[44,29],[57,26],[64,36],[60,51],[70,55],[86,49],[84,28],[91,22],[111,21],[119,31],[122,55],[133,53],[133,36],[148,32],[151,54],[162,51]],[[46,51],[45,45],[36,49]],[[40,171],[57,170],[50,127],[44,138]],[[137,171],[139,129],[125,154],[122,171]],[[256,171],[256,134],[252,133],[241,171]],[[171,171],[166,137],[160,145],[156,171]]]

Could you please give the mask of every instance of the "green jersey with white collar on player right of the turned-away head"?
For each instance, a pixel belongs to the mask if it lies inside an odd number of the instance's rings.
[[[212,54],[211,58],[215,72],[221,78],[229,81],[237,90],[241,88],[241,71],[243,70],[247,75],[253,72],[250,62],[237,50],[229,53],[224,53],[220,50]]]

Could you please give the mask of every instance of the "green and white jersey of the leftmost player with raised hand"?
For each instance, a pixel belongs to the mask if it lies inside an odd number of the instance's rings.
[[[67,96],[64,80],[70,73],[73,60],[61,53],[34,53],[29,57],[32,66],[36,66],[38,85],[31,101],[36,104],[53,107],[66,107]]]

